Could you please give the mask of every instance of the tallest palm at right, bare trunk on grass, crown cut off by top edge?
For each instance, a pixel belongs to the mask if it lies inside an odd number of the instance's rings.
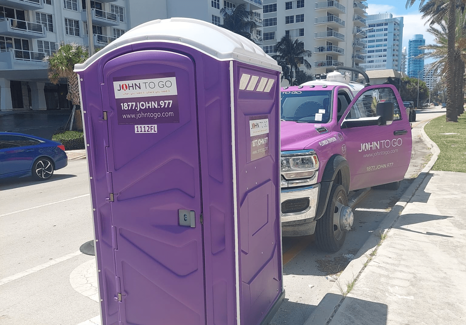
[[[411,7],[416,0],[406,0],[406,8]],[[419,9],[424,6],[425,0],[419,0]],[[455,78],[455,27],[456,9],[464,10],[465,0],[429,0],[423,18],[429,17],[431,25],[448,18],[447,24],[447,69],[446,69],[446,121],[458,122],[458,113],[454,106],[454,78]]]

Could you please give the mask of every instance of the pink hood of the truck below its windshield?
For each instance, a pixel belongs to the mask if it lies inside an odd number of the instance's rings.
[[[281,121],[281,151],[302,150],[312,143],[327,138],[332,131],[329,124],[297,123]],[[328,132],[320,134],[316,128],[325,127]]]

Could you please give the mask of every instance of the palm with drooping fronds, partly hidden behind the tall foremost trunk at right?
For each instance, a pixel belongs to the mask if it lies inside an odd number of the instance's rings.
[[[447,70],[447,43],[448,43],[448,18],[444,18],[439,22],[438,27],[431,25],[427,29],[435,37],[436,44],[428,44],[420,48],[427,50],[424,57],[436,59],[432,64],[434,71],[439,71],[445,74]],[[463,89],[464,89],[464,73],[466,62],[466,14],[457,11],[456,13],[457,27],[455,29],[455,55],[454,55],[454,108],[457,114],[460,115],[464,112],[463,108]]]

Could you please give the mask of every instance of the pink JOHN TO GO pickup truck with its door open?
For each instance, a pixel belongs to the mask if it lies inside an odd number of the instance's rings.
[[[349,191],[397,189],[411,160],[411,124],[396,87],[370,86],[362,74],[366,85],[335,71],[281,88],[282,235],[315,233],[328,252],[353,224]]]

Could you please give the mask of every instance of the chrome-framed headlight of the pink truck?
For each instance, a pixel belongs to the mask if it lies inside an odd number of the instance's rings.
[[[319,169],[319,159],[314,150],[282,152],[280,165],[285,179],[311,178]]]

